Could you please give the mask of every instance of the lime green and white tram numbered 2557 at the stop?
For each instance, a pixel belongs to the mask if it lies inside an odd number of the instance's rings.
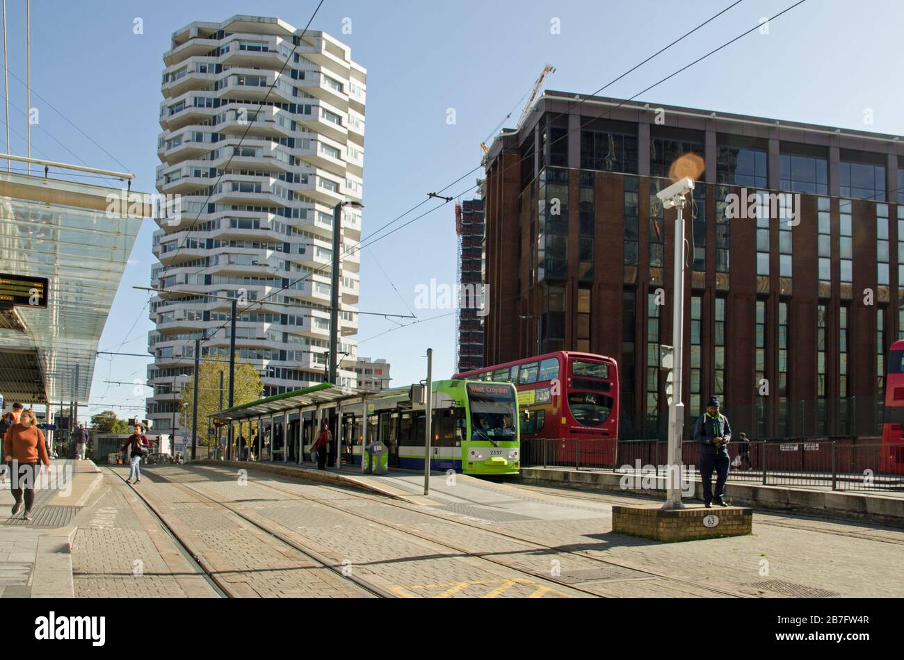
[[[391,468],[424,469],[425,406],[408,389],[367,399],[367,440],[379,439]],[[511,383],[441,380],[433,384],[430,469],[514,475],[521,466],[518,399]],[[356,415],[357,416],[357,415]],[[352,428],[356,426],[356,420]],[[361,456],[354,456],[360,464]]]

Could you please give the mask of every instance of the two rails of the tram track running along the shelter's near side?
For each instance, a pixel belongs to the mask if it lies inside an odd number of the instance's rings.
[[[213,469],[213,468],[208,467],[208,466],[199,466],[199,469],[207,470],[207,469]],[[259,480],[255,480],[254,483],[256,486],[259,486],[260,488],[267,488],[269,490],[281,493],[283,495],[289,495],[292,497],[296,497],[299,499],[304,499],[306,501],[313,502],[320,506],[332,508],[336,511],[340,511],[340,512],[344,513],[345,515],[351,515],[344,508],[336,506],[328,499],[322,499],[319,497],[311,497],[311,496],[303,495],[303,494],[297,492],[296,490],[280,488],[271,483],[262,483]],[[339,487],[335,487],[335,486],[331,486],[331,485],[327,485],[327,484],[323,484],[323,483],[316,483],[315,485],[317,486],[317,488],[326,488],[333,492],[348,495],[347,488],[342,489]],[[390,497],[380,497],[380,496],[371,495],[369,493],[359,493],[359,492],[355,492],[354,497],[359,497],[361,499],[372,501],[372,502],[379,502],[380,504],[383,504],[383,505],[386,505],[389,507],[395,507],[395,508],[402,509],[402,510],[407,511],[412,514],[418,514],[421,516],[427,516],[427,517],[434,518],[437,520],[442,520],[446,523],[451,523],[451,524],[455,524],[455,525],[464,525],[466,527],[478,529],[485,534],[504,537],[507,540],[517,541],[522,544],[533,545],[533,546],[535,546],[534,548],[532,548],[533,550],[552,551],[553,553],[561,553],[561,554],[566,554],[566,555],[570,554],[570,555],[572,555],[574,557],[578,557],[582,560],[589,560],[591,562],[596,562],[598,564],[601,564],[602,566],[612,567],[612,568],[620,568],[620,569],[626,569],[628,571],[644,573],[645,576],[648,578],[655,578],[655,579],[660,579],[660,580],[665,580],[665,581],[671,581],[675,584],[687,585],[687,586],[693,587],[695,589],[710,591],[714,597],[727,597],[728,596],[728,597],[733,597],[733,598],[757,598],[756,596],[751,595],[751,594],[741,593],[739,591],[728,590],[728,589],[720,589],[719,587],[714,587],[710,584],[705,584],[700,581],[693,581],[693,580],[687,580],[684,578],[677,578],[677,577],[675,577],[673,575],[669,575],[667,573],[656,572],[649,568],[635,566],[628,562],[620,562],[620,561],[617,562],[617,561],[614,561],[611,559],[603,559],[601,557],[598,557],[598,556],[595,556],[595,555],[592,555],[592,554],[589,554],[586,552],[582,552],[582,551],[563,549],[561,547],[542,543],[540,540],[531,538],[528,536],[514,535],[511,533],[491,529],[491,528],[488,528],[486,525],[478,525],[476,523],[470,523],[466,520],[462,520],[459,518],[453,518],[450,516],[441,516],[436,513],[432,513],[428,510],[423,510],[422,508],[415,508],[416,505],[412,505],[410,502],[405,502],[405,504],[403,505],[403,504],[400,504],[400,502],[397,500],[392,500]],[[395,530],[396,532],[400,532],[405,535],[414,536],[416,538],[419,538],[422,541],[427,541],[428,543],[445,546],[448,549],[454,550],[457,553],[466,554],[467,556],[470,556],[470,557],[476,557],[476,558],[479,558],[486,562],[494,563],[494,564],[504,567],[505,569],[510,570],[510,571],[522,572],[526,575],[532,576],[535,579],[540,579],[543,581],[551,582],[551,583],[557,584],[558,586],[569,589],[569,590],[576,590],[576,591],[580,591],[583,593],[587,593],[590,596],[593,596],[595,598],[607,598],[607,596],[598,593],[598,591],[583,589],[578,584],[575,584],[572,582],[567,582],[567,581],[557,580],[554,576],[551,576],[549,573],[533,572],[530,569],[527,569],[526,567],[516,566],[511,563],[502,562],[498,559],[495,559],[494,557],[487,556],[487,553],[474,553],[473,551],[468,550],[467,548],[458,546],[456,544],[451,544],[445,539],[438,538],[437,536],[434,536],[434,535],[423,534],[422,531],[420,531],[420,530],[412,531],[409,529],[401,528],[398,525],[393,525],[393,524],[387,523],[386,521],[381,520],[379,517],[364,514],[360,510],[356,510],[354,513],[354,516],[361,517],[361,518],[368,520],[372,523],[375,523],[377,525],[383,525],[383,526],[387,527],[388,529]]]

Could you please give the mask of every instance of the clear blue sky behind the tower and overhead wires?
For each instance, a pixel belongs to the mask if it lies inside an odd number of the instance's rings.
[[[348,43],[353,59],[368,70],[363,235],[475,167],[479,144],[523,98],[545,62],[557,68],[547,87],[593,92],[730,4],[326,0],[312,27]],[[791,4],[744,0],[605,93],[631,97]],[[192,21],[219,22],[232,14],[278,16],[301,28],[315,6],[312,0],[33,2],[32,88],[103,147],[33,95],[33,106],[41,111],[33,155],[126,168],[137,174],[137,190],[153,191],[161,55],[170,34]],[[136,17],[143,19],[143,34],[133,33]],[[342,33],[345,17],[352,19],[352,34]],[[560,19],[560,34],[551,33],[553,18]],[[902,23],[904,4],[898,0],[808,0],[771,23],[767,35],[750,34],[639,100],[901,135]],[[7,30],[10,70],[24,79],[24,0],[8,3]],[[12,77],[9,85],[11,103],[20,108],[10,108],[11,125],[24,135],[24,86]],[[448,107],[456,108],[456,125],[447,125]],[[873,125],[863,124],[864,108],[872,109]],[[506,125],[514,125],[519,112]],[[24,139],[12,135],[11,151],[24,149]],[[453,190],[465,190],[475,179]],[[100,349],[146,352],[153,326],[143,307],[146,293],[132,286],[149,283],[154,228],[145,221]],[[455,248],[454,209],[448,205],[365,250],[360,308],[407,313],[418,284],[430,278],[454,281]],[[415,311],[425,319],[447,312]],[[424,377],[422,356],[428,347],[434,349],[435,376],[451,375],[452,316],[369,339],[393,327],[390,321],[363,317],[359,339],[362,355],[390,360],[394,385]],[[100,358],[91,402],[143,408],[148,390],[135,395],[132,386],[103,381],[143,379],[149,361]],[[103,407],[92,405],[90,412]],[[120,416],[134,412],[116,410]]]

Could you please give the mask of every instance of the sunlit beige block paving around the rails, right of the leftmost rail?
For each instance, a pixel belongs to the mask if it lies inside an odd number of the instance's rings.
[[[182,466],[146,470],[138,488],[241,596],[369,594],[203,495],[402,597],[904,595],[904,532],[870,525],[757,514],[751,536],[659,544],[612,533],[612,505],[643,501],[617,494],[478,482],[408,503],[253,468]],[[99,503],[91,518],[121,528],[109,562],[147,551],[129,535],[140,525],[120,521],[119,510]],[[130,564],[125,570],[116,579],[134,581]]]

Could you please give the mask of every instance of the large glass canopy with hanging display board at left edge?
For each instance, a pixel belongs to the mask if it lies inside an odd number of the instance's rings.
[[[47,280],[46,307],[0,301],[0,394],[24,404],[87,402],[100,334],[151,206],[146,196],[111,205],[131,199],[125,182],[108,188],[0,168],[0,286]]]

